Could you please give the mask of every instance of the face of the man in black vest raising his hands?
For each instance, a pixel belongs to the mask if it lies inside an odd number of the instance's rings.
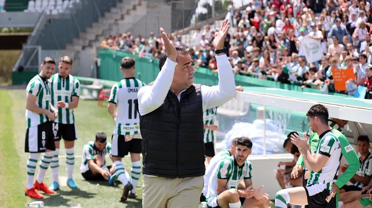
[[[174,70],[172,85],[179,89],[187,89],[193,84],[195,69],[189,54],[177,55],[177,65]]]

